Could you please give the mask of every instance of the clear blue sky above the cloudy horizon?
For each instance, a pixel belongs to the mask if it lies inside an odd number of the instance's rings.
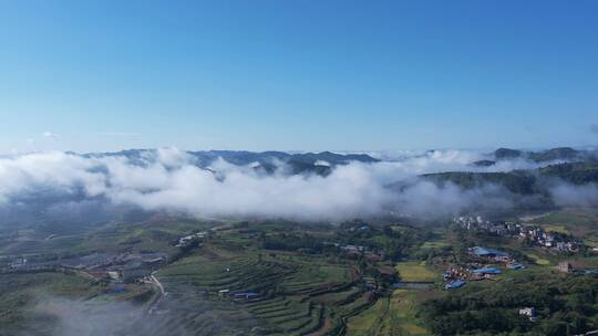
[[[0,153],[598,143],[598,1],[0,1]]]

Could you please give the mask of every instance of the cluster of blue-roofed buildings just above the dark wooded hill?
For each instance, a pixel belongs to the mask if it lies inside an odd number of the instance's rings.
[[[472,262],[465,266],[451,265],[443,273],[444,288],[453,290],[463,286],[467,281],[494,280],[503,271],[492,264],[504,264],[511,270],[520,270],[525,266],[503,251],[474,246],[468,249]]]

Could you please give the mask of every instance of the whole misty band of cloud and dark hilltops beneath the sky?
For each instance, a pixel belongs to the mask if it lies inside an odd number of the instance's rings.
[[[105,220],[123,209],[318,221],[592,206],[594,162],[594,151],[570,148],[395,156],[176,148],[32,153],[0,159],[0,211],[12,222],[35,211]],[[576,180],[579,169],[587,176]]]

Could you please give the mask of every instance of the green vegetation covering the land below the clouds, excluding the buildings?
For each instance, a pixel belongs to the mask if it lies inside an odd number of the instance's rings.
[[[530,220],[587,239],[598,231],[596,219],[594,210],[567,209]],[[6,235],[11,243],[1,249],[32,264],[95,253],[164,253],[166,260],[152,270],[166,294],[143,283],[148,273],[134,277],[146,276],[136,284],[74,273],[2,274],[0,335],[25,325],[32,335],[51,335],[58,317],[35,309],[38,298],[48,295],[94,306],[132,304],[142,315],[130,318],[123,335],[567,335],[597,328],[598,280],[555,266],[564,260],[598,265],[598,256],[557,255],[517,239],[405,222],[165,220],[50,240],[32,239],[34,232],[20,233],[29,240]],[[179,238],[200,231],[202,238],[176,246]],[[526,269],[503,266],[495,281],[442,291],[442,272],[471,263],[468,248],[475,245],[506,251]],[[433,284],[396,288],[396,281]],[[238,293],[255,296],[238,300]],[[537,322],[519,316],[526,306],[536,308]]]

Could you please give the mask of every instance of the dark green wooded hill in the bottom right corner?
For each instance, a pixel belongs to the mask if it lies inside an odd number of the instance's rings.
[[[538,321],[520,316],[523,307],[535,307]],[[597,277],[548,269],[472,283],[421,307],[426,325],[439,335],[574,335],[598,328],[597,313]]]

